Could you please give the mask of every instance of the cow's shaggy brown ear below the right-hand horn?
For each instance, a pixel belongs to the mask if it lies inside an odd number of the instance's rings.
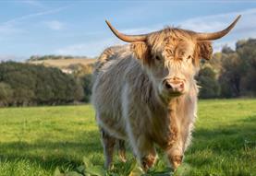
[[[210,60],[213,55],[213,46],[211,41],[198,41],[198,54],[200,59]]]

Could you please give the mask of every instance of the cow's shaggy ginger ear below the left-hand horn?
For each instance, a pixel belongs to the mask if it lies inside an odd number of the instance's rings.
[[[146,42],[133,42],[130,44],[130,47],[137,59],[139,59],[143,64],[149,64],[151,60],[151,51]]]

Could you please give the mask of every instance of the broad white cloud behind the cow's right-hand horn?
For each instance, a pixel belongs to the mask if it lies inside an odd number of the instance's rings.
[[[239,19],[236,27],[223,39],[213,42],[214,51],[218,52],[226,44],[235,49],[236,41],[256,37],[256,8],[214,16],[192,18],[180,24],[182,24],[181,27],[184,29],[213,32],[225,29],[238,15],[242,15],[242,17]]]

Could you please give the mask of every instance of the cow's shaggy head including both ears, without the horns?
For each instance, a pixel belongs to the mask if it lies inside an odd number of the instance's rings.
[[[152,34],[147,42],[131,46],[165,100],[188,93],[194,86],[200,57],[210,59],[213,53],[211,42],[198,42],[184,35]]]

